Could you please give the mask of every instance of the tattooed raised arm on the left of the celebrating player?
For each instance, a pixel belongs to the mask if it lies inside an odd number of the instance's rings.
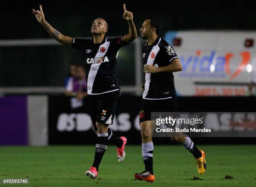
[[[64,36],[62,35],[58,30],[54,29],[45,19],[44,19],[44,12],[42,9],[42,6],[40,5],[40,11],[39,10],[32,10],[33,14],[36,16],[36,19],[38,20],[41,25],[49,32],[49,34],[58,42],[64,44],[64,45],[70,45],[72,42],[72,37]]]

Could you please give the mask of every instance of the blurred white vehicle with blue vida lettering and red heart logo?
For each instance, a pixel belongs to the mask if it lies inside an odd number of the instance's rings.
[[[256,32],[170,31],[164,39],[181,42],[173,45],[183,67],[174,73],[177,95],[245,96],[256,82],[256,48],[245,47]]]

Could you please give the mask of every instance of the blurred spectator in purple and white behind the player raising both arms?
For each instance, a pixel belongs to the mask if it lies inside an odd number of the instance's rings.
[[[69,77],[66,86],[66,95],[76,97],[81,101],[84,97],[87,97],[87,83],[84,68],[81,65],[76,65],[77,76]]]

